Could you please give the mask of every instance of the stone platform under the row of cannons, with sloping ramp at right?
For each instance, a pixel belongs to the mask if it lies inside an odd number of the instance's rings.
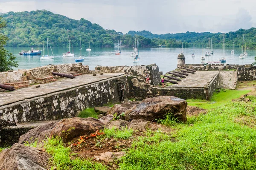
[[[177,84],[155,88],[157,95],[177,96],[181,99],[210,100],[217,88],[235,89],[236,71],[196,71],[181,79]]]

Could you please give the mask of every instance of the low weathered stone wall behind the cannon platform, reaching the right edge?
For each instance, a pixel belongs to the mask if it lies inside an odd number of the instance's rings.
[[[192,68],[196,71],[224,71],[224,70],[236,70],[238,74],[238,80],[249,81],[256,79],[256,66],[253,65],[224,65],[224,64],[213,64],[213,65],[203,65],[203,64],[186,64],[183,65],[186,68]]]

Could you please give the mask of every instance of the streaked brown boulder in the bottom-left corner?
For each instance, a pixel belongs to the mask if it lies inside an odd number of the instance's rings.
[[[35,147],[15,143],[0,153],[0,170],[45,170]]]

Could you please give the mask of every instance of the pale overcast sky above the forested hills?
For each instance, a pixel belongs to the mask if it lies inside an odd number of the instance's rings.
[[[256,27],[256,0],[0,0],[0,12],[46,9],[106,29],[154,34]]]

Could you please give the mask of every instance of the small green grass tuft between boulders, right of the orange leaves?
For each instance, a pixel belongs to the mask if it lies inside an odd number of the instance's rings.
[[[104,130],[104,133],[108,138],[113,137],[114,139],[129,139],[132,136],[133,132],[134,130],[128,129],[128,127],[125,127],[121,130],[115,127],[113,127],[112,129]]]

